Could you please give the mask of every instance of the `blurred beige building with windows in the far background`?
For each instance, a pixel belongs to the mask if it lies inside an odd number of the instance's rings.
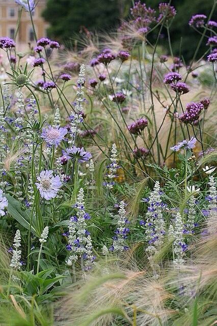
[[[39,0],[37,7],[34,12],[34,24],[35,29],[37,33],[37,37],[45,37],[46,36],[46,29],[48,24],[42,19],[41,12],[45,7],[45,0]],[[18,6],[14,0],[0,0],[0,36],[8,36],[10,35],[10,30],[16,30],[16,22],[18,18],[18,9],[20,6]],[[14,10],[14,17],[10,16],[10,11]],[[34,41],[31,41],[30,34],[32,30],[30,15],[28,12],[25,12],[24,9],[22,10],[22,16],[21,16],[21,22],[20,22],[20,28],[19,33],[16,38],[16,43],[18,44],[27,44],[35,43]]]

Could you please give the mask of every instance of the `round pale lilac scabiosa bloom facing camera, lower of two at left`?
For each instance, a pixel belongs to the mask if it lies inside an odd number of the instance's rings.
[[[57,196],[60,190],[62,182],[60,177],[57,175],[53,176],[52,170],[41,171],[40,175],[37,177],[39,182],[36,182],[36,186],[39,189],[39,193],[42,198],[50,200]]]

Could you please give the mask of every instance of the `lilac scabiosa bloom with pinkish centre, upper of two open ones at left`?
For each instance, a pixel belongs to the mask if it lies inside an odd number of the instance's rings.
[[[43,138],[47,144],[57,147],[60,145],[60,142],[64,139],[67,132],[67,128],[48,126],[42,130],[41,138]]]

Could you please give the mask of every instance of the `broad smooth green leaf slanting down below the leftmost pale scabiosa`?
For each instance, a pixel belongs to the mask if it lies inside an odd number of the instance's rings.
[[[31,220],[31,211],[30,210],[21,210],[20,203],[18,200],[14,199],[10,195],[6,195],[8,200],[8,213],[14,218],[19,224],[21,224],[25,229],[30,229],[30,220]],[[37,233],[37,224],[35,216],[32,219],[31,231],[36,236],[40,236],[40,233]]]

